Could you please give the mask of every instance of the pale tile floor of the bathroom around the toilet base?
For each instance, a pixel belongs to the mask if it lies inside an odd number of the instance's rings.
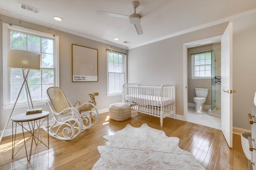
[[[188,106],[188,122],[221,130],[221,119],[208,115],[209,109],[203,109],[202,113],[196,112],[195,107]]]

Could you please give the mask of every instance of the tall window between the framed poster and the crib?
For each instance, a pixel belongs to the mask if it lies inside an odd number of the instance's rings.
[[[107,50],[107,92],[108,96],[122,94],[126,82],[126,53]]]

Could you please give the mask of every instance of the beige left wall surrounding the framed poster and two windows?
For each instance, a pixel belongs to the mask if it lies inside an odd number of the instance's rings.
[[[61,32],[44,26],[39,26],[37,24],[32,24],[30,22],[24,22],[14,19],[8,16],[0,15],[0,19],[6,23],[11,23],[16,26],[21,26],[29,28],[32,30],[37,30],[40,32],[50,33],[59,36],[60,40],[60,88],[64,91],[65,95],[68,97],[71,103],[76,103],[80,101],[85,103],[90,101],[89,93],[98,92],[99,96],[96,96],[97,109],[106,110],[112,103],[122,102],[122,95],[107,97],[107,73],[106,73],[106,47],[127,52],[126,49],[121,49],[118,47],[111,46],[106,43],[97,42],[87,38],[82,38],[80,36],[75,36],[73,34],[68,34],[66,32]],[[2,51],[2,22],[0,22],[0,51]],[[98,49],[98,82],[72,82],[72,43],[77,45],[82,45],[86,47],[91,47]],[[0,106],[3,105],[3,88],[2,88],[2,52],[0,53]],[[45,105],[37,106],[42,107],[44,110],[49,110],[48,106]],[[12,115],[17,115],[19,113],[24,113],[28,108],[18,108],[14,109]],[[8,116],[10,115],[11,109],[4,110],[0,107],[0,130],[4,129]],[[50,119],[52,116],[50,115]],[[12,128],[12,121],[9,122],[7,129]]]

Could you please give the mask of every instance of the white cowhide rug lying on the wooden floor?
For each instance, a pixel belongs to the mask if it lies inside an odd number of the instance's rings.
[[[204,170],[194,156],[179,148],[179,138],[143,124],[128,124],[114,135],[103,136],[109,145],[98,146],[100,159],[93,170]]]

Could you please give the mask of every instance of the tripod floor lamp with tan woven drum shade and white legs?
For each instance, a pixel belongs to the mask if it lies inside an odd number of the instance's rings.
[[[23,80],[23,83],[20,87],[20,92],[22,91],[22,88],[25,84],[25,86],[26,86],[26,96],[27,96],[27,101],[28,101],[28,109],[30,109],[29,100],[31,102],[32,109],[34,109],[32,99],[31,99],[31,96],[30,96],[30,91],[28,89],[27,77],[28,77],[28,73],[29,73],[30,69],[40,70],[40,54],[36,53],[36,52],[32,52],[32,51],[21,50],[21,49],[9,49],[8,54],[7,54],[7,67],[8,68],[15,68],[15,69],[22,69],[22,74],[23,74],[23,79],[24,80]],[[26,74],[25,74],[25,71],[24,71],[25,69],[28,70],[26,72]],[[15,103],[14,103],[13,108],[12,108],[12,112],[13,112],[14,107],[15,107],[17,101],[18,101],[18,98],[20,96],[20,92],[18,93],[18,96],[15,100]],[[28,97],[29,97],[29,99],[28,99]],[[12,112],[10,113],[8,121],[6,122],[4,130],[1,134],[0,142],[1,142],[2,137],[4,135],[4,131],[7,127],[10,119],[11,119]]]

